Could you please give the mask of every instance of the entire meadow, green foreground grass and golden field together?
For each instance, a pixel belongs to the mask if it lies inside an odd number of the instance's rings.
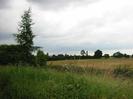
[[[133,59],[91,59],[0,66],[0,99],[133,99],[132,64]]]

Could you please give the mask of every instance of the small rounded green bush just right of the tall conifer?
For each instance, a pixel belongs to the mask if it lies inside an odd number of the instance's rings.
[[[45,66],[47,61],[47,55],[43,53],[43,51],[38,50],[36,55],[36,62],[39,66]]]

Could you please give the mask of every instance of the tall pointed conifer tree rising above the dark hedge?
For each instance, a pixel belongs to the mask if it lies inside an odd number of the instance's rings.
[[[33,47],[33,35],[32,32],[32,19],[31,19],[31,10],[28,9],[24,11],[24,14],[21,16],[22,20],[19,23],[18,33],[14,34],[17,43],[21,47],[21,61],[24,63],[31,63],[32,61],[32,52]]]

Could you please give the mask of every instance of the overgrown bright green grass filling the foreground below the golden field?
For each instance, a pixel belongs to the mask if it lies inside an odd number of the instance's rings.
[[[0,67],[0,99],[133,99],[131,79],[50,68]]]

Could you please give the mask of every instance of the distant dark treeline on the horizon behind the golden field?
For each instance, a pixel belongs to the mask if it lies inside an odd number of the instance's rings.
[[[102,53],[101,50],[97,50],[94,52],[94,55],[88,55],[88,51],[81,50],[81,55],[68,55],[68,54],[58,54],[58,55],[52,55],[48,57],[49,61],[54,61],[54,60],[72,60],[72,59],[100,59],[100,58],[130,58],[133,57],[127,54],[123,54],[121,52],[115,52],[112,56],[109,54],[104,54]]]

